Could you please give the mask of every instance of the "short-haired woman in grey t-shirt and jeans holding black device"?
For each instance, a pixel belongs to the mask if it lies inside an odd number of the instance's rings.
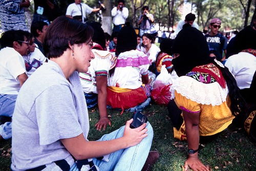
[[[125,126],[89,141],[89,117],[78,72],[87,72],[93,29],[60,16],[49,26],[50,59],[19,91],[13,115],[12,170],[141,170],[153,129]],[[104,156],[102,158],[102,156]],[[101,158],[99,158],[101,157]]]

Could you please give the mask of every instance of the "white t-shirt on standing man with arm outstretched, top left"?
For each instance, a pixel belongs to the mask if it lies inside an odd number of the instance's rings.
[[[82,13],[81,13],[81,6],[82,6]],[[91,14],[93,11],[93,8],[89,7],[88,5],[81,3],[80,4],[70,4],[67,8],[66,15],[70,16],[76,16],[76,15],[82,15],[83,18],[86,18],[87,14]]]

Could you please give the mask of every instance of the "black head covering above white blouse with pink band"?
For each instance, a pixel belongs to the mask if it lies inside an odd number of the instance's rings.
[[[121,28],[117,34],[116,52],[119,54],[125,51],[135,50],[137,47],[137,35],[130,25]]]

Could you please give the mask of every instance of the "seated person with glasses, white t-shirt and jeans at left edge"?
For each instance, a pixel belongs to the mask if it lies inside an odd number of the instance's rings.
[[[23,30],[10,30],[2,34],[0,51],[0,141],[12,137],[15,102],[20,87],[28,79],[22,55],[28,52],[29,40]]]

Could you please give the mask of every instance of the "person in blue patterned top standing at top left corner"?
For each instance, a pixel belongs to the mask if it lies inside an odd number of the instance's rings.
[[[24,7],[29,7],[28,0],[6,0],[0,1],[0,18],[2,31],[24,30],[28,31]]]

